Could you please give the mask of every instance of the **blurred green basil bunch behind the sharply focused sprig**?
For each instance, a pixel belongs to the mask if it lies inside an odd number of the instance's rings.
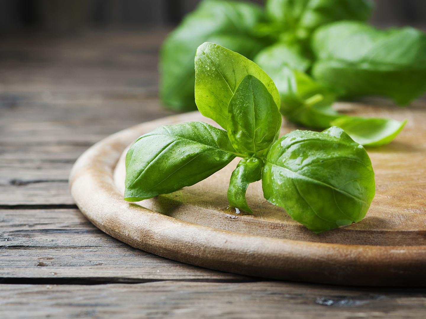
[[[344,115],[332,108],[338,98],[363,95],[406,105],[426,91],[426,35],[414,28],[368,26],[364,22],[373,8],[371,0],[267,0],[264,10],[252,3],[203,0],[164,41],[161,99],[175,110],[195,109],[193,52],[209,41],[266,71],[288,121],[314,129],[337,125],[363,145],[386,144],[405,122],[338,120]]]

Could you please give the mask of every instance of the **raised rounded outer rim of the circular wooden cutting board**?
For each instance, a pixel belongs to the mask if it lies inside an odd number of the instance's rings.
[[[332,284],[426,285],[423,245],[342,245],[241,234],[124,201],[113,170],[129,142],[159,125],[200,118],[193,112],[147,122],[92,146],[70,175],[71,193],[83,214],[102,231],[133,247],[211,269]]]

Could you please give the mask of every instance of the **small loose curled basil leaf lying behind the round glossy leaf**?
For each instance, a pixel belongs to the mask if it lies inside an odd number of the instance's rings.
[[[399,122],[386,118],[345,116],[331,122],[342,128],[357,143],[381,146],[391,142],[402,131],[407,120]]]

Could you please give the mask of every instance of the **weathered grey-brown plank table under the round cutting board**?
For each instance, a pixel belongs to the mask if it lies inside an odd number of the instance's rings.
[[[95,228],[69,194],[95,142],[174,114],[167,30],[0,41],[0,317],[425,318],[426,288],[271,281],[182,264]]]

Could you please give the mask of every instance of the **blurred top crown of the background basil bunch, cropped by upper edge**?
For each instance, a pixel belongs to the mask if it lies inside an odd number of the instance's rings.
[[[305,40],[315,28],[327,23],[366,21],[373,7],[370,0],[268,0],[265,10],[269,20],[282,25],[282,31]]]

